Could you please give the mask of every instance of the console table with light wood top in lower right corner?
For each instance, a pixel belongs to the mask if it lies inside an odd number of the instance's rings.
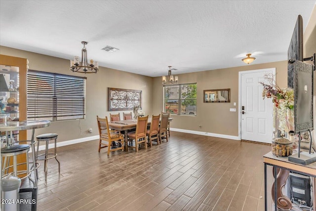
[[[263,162],[265,164],[265,211],[268,209],[268,204],[267,204],[267,165],[273,166],[274,168],[274,179],[275,179],[275,211],[277,211],[277,204],[276,204],[276,168],[280,169],[285,169],[285,170],[290,170],[293,172],[297,173],[302,173],[308,176],[312,177],[312,183],[313,183],[313,203],[314,207],[313,210],[316,211],[316,162],[303,166],[300,164],[292,163],[288,161],[287,157],[276,157],[275,155],[272,154],[272,152],[267,153],[266,155],[263,156]]]

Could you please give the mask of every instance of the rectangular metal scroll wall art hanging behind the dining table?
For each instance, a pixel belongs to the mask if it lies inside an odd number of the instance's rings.
[[[108,111],[133,110],[142,108],[142,91],[123,88],[108,88]]]

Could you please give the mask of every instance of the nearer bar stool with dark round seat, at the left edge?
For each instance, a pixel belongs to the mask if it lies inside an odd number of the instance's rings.
[[[36,187],[35,181],[31,178],[31,170],[29,168],[29,156],[28,152],[30,151],[31,145],[29,144],[17,144],[17,145],[10,145],[1,148],[1,157],[4,158],[4,161],[6,161],[7,158],[13,157],[13,165],[12,166],[6,166],[6,162],[3,165],[2,169],[2,177],[8,175],[8,173],[4,174],[5,170],[8,170],[9,168],[13,168],[13,174],[14,176],[18,176],[21,174],[26,174],[26,176],[22,177],[21,179],[24,179],[26,177],[29,177],[29,179],[33,182],[34,187]],[[26,154],[26,163],[17,163],[17,156],[21,154]],[[19,165],[25,165],[26,164],[26,170],[17,170],[17,166]],[[35,175],[36,176],[36,175]]]

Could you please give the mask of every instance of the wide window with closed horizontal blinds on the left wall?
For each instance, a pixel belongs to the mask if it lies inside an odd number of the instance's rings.
[[[85,77],[29,70],[28,120],[84,119],[85,80]]]

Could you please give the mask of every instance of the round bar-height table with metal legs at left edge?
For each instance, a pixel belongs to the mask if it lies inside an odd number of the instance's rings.
[[[36,170],[36,158],[35,158],[35,145],[34,145],[34,132],[35,129],[41,128],[41,127],[48,127],[50,126],[50,121],[47,120],[34,120],[34,121],[10,121],[6,123],[0,124],[0,131],[10,131],[10,140],[13,139],[13,131],[15,130],[27,130],[32,129],[32,139],[31,139],[31,146],[32,146],[32,157],[33,157],[33,170],[34,170],[34,178],[35,178],[35,184],[37,186],[38,184],[38,174]],[[9,140],[8,137],[6,139]],[[21,140],[24,141],[24,140]],[[9,145],[9,143],[8,143]],[[15,167],[16,168],[16,167]],[[15,169],[15,172],[16,169]]]

